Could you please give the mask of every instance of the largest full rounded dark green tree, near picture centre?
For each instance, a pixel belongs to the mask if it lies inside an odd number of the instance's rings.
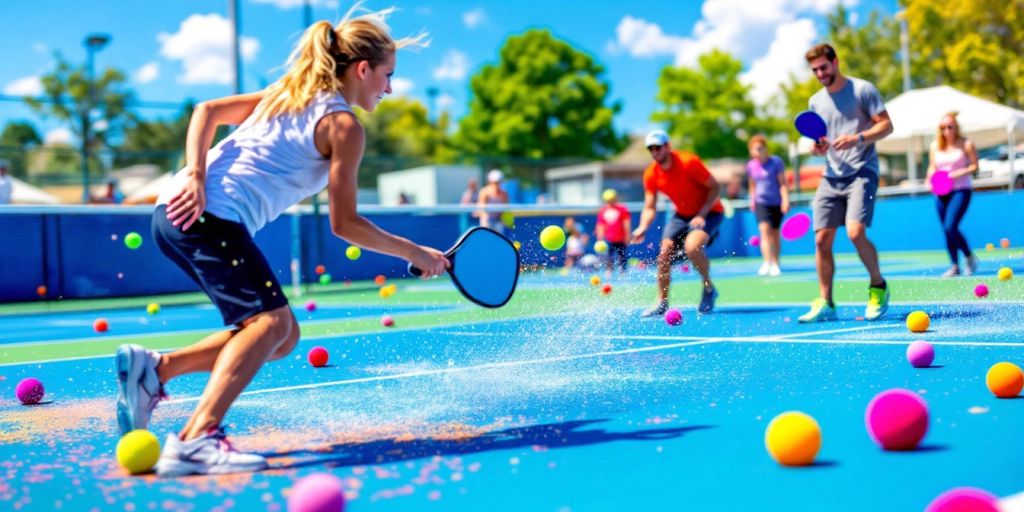
[[[511,36],[470,81],[456,145],[470,155],[608,157],[626,144],[606,104],[604,67],[546,30]]]

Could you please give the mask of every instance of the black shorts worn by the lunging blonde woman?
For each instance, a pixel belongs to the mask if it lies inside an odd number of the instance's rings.
[[[269,263],[245,226],[203,214],[187,231],[167,220],[167,206],[153,213],[153,240],[181,267],[231,326],[288,305]]]

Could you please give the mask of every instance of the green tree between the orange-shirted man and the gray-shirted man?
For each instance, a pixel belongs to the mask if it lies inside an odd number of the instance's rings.
[[[751,87],[739,81],[743,63],[712,50],[696,68],[666,67],[657,78],[658,109],[651,120],[666,123],[670,135],[701,158],[746,155],[746,138],[772,134],[774,123],[759,115]]]

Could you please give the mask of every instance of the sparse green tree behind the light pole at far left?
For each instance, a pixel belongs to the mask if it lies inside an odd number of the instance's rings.
[[[57,53],[56,69],[44,75],[44,100],[27,98],[26,103],[44,117],[65,121],[72,132],[82,136],[82,119],[90,115],[88,147],[97,150],[108,144],[112,134],[119,134],[129,120],[128,103],[133,97],[127,88],[125,75],[108,68],[95,77],[93,98],[89,98],[89,80],[84,67],[72,66]],[[91,105],[91,109],[90,109]],[[98,169],[98,161],[90,159],[90,169]]]

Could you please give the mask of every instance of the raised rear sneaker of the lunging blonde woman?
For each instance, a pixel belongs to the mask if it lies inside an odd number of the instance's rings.
[[[160,353],[139,345],[121,345],[115,356],[118,371],[118,427],[121,435],[150,426],[157,402],[166,398],[157,376]]]

